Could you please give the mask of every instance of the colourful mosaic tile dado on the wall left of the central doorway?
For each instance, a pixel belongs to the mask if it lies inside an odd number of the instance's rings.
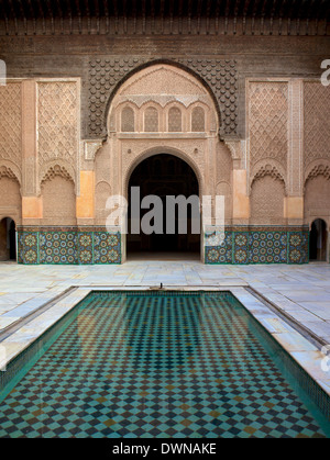
[[[19,263],[120,263],[120,233],[106,231],[19,229]]]

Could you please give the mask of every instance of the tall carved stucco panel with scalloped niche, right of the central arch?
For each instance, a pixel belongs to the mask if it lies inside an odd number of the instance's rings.
[[[285,224],[288,104],[288,82],[249,82],[249,191],[252,225]]]

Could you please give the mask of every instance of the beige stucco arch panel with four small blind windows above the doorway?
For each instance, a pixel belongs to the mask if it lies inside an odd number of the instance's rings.
[[[121,114],[128,105],[134,111],[133,133],[121,132]],[[144,132],[144,115],[150,106],[157,111],[158,132]],[[196,106],[205,111],[205,132],[198,134],[191,132],[193,108]],[[168,123],[172,109],[180,112],[180,123],[176,123],[178,132],[173,131]],[[135,74],[123,83],[109,111],[109,148],[117,156],[121,171],[121,183],[109,186],[125,194],[134,166],[148,155],[173,153],[193,167],[202,193],[206,178],[213,173],[213,168],[207,167],[207,157],[215,156],[215,148],[210,152],[208,138],[217,139],[216,119],[216,106],[208,90],[187,71],[158,64]]]

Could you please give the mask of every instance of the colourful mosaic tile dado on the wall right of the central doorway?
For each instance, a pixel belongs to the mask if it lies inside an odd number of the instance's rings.
[[[308,229],[234,228],[217,242],[206,235],[206,263],[308,263]]]

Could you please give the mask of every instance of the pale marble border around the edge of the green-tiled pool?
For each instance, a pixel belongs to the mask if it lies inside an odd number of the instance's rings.
[[[56,298],[50,301],[54,303],[46,311],[33,317],[30,322],[22,325],[13,334],[0,341],[0,372],[6,371],[20,354],[29,348],[44,333],[53,327],[62,317],[69,313],[78,303],[80,303],[89,293],[96,291],[146,291],[146,292],[211,292],[227,291],[248,310],[255,321],[276,340],[276,343],[294,359],[294,361],[302,368],[302,370],[314,380],[314,382],[330,397],[330,366],[327,372],[322,370],[322,363],[329,358],[322,354],[311,341],[304,335],[294,329],[285,319],[273,312],[261,300],[256,299],[246,288],[249,284],[232,285],[166,285],[163,289],[157,287],[130,287],[130,285],[92,285],[81,287],[73,285],[67,295],[61,298],[58,302]],[[74,290],[74,291],[73,291]],[[273,302],[274,303],[274,302]],[[276,304],[275,304],[276,305]],[[42,310],[42,307],[41,307]],[[296,322],[297,323],[297,322]],[[298,324],[298,323],[297,323]],[[276,329],[277,326],[277,329]],[[285,340],[285,334],[290,334],[295,340]],[[305,348],[304,348],[305,347]]]

